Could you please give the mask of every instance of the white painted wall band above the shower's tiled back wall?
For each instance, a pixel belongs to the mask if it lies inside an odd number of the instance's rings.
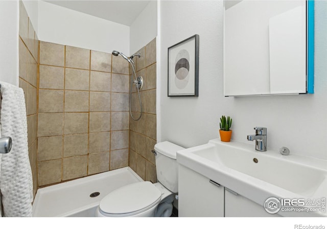
[[[129,53],[129,26],[43,1],[38,3],[38,38],[109,53]]]

